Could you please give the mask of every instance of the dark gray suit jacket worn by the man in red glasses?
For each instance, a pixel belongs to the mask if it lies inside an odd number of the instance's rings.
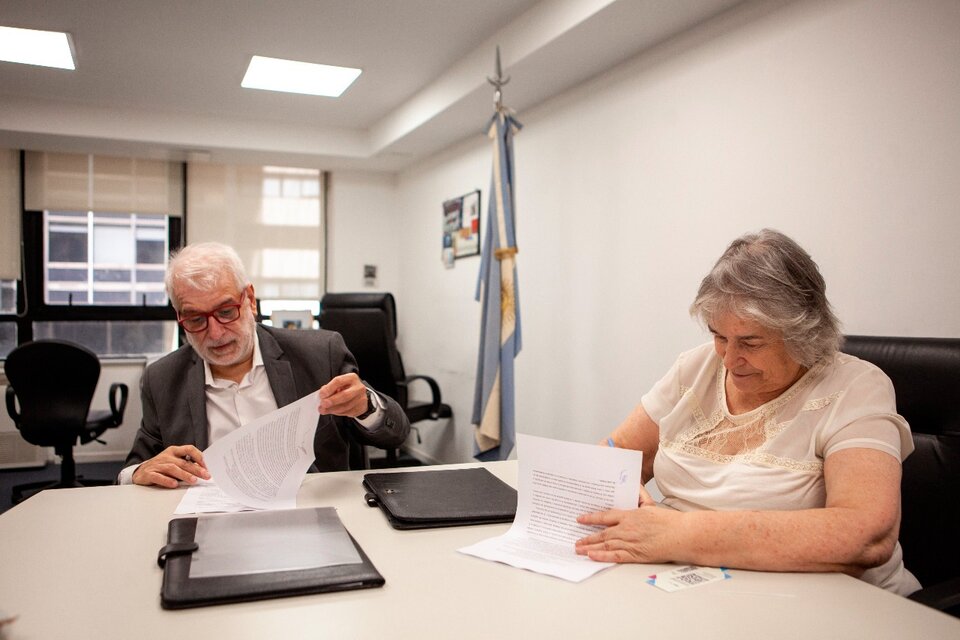
[[[260,353],[270,388],[282,407],[316,391],[335,376],[357,373],[357,363],[339,333],[276,329],[257,325]],[[353,418],[318,416],[314,462],[319,471],[347,469],[346,438],[352,431],[365,443],[400,446],[410,431],[403,409],[379,394],[386,404],[382,424],[373,431]],[[184,345],[148,366],[140,381],[143,421],[124,466],[148,460],[172,445],[209,445],[203,360]]]

